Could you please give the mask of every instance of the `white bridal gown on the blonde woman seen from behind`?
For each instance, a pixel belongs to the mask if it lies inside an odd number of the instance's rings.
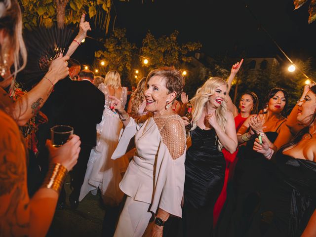
[[[98,88],[105,95],[104,111],[102,121],[97,124],[97,145],[90,153],[79,201],[90,191],[96,195],[99,188],[105,204],[118,205],[123,198],[123,192],[118,184],[122,179],[122,173],[126,171],[128,159],[122,157],[113,160],[111,156],[118,145],[118,136],[123,124],[118,114],[110,110],[111,99],[108,99],[108,87],[101,83]],[[127,89],[122,87],[119,100],[123,107],[126,104],[126,98]]]

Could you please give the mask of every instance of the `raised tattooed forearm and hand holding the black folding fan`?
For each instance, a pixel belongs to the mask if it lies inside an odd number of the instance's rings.
[[[12,104],[10,113],[19,126],[25,125],[30,118],[37,114],[50,95],[53,85],[69,74],[66,62],[68,59],[68,56],[62,57],[60,55],[52,61],[44,78],[32,90],[19,97]]]

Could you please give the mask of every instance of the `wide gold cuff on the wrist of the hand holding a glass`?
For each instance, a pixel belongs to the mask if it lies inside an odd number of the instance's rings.
[[[58,194],[64,184],[68,170],[60,163],[50,164],[41,188],[53,189]]]

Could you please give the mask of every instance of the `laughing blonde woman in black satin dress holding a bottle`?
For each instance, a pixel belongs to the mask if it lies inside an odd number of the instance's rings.
[[[191,100],[192,146],[186,154],[183,206],[187,236],[212,236],[213,208],[225,176],[222,149],[233,153],[237,148],[233,114],[226,108],[227,87],[221,78],[208,79]]]

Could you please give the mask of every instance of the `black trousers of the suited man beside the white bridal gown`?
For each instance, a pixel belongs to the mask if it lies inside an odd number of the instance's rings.
[[[79,197],[80,194],[80,189],[81,185],[83,184],[91,149],[91,145],[81,144],[78,162],[70,173],[71,187],[74,189],[73,195],[76,197]]]

